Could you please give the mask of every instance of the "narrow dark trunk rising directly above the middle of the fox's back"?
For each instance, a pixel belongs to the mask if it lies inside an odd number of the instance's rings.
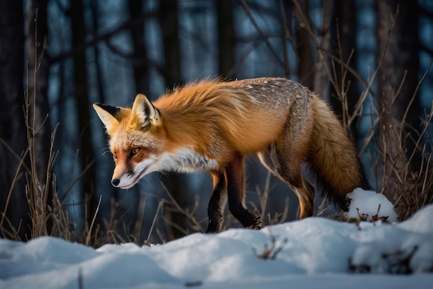
[[[234,27],[231,0],[215,0],[218,25],[218,71],[222,78],[236,78],[234,67]],[[232,75],[229,75],[232,74]]]

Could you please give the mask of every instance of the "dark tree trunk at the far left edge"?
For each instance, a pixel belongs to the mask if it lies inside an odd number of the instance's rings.
[[[27,148],[23,60],[22,1],[0,1],[0,236],[26,240],[26,236],[30,237],[31,222],[26,200],[26,177],[23,167],[20,167]],[[6,219],[19,229],[18,236],[11,234]]]

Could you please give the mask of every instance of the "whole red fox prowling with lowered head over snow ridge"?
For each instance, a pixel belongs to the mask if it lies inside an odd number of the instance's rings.
[[[129,189],[155,171],[206,170],[212,175],[207,232],[221,230],[225,198],[244,227],[261,227],[244,198],[243,159],[253,153],[295,191],[300,218],[313,215],[314,200],[302,162],[342,209],[347,210],[347,193],[367,186],[356,149],[337,117],[291,80],[203,80],[154,103],[138,94],[132,108],[93,107],[110,137],[113,186]]]

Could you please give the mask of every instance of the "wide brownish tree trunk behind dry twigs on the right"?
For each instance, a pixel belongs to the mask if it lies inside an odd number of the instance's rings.
[[[407,138],[409,131],[405,129],[414,127],[412,125],[419,112],[416,101],[410,105],[418,82],[418,21],[414,20],[418,19],[418,6],[409,1],[376,0],[376,8],[378,63],[389,38],[386,55],[378,71],[380,139],[384,155],[382,192],[394,202],[396,212],[403,220],[413,213],[413,172],[411,166],[407,166],[405,151],[409,148],[409,142],[405,140],[410,138]],[[396,22],[389,35],[395,17]],[[407,118],[403,119],[407,110]]]

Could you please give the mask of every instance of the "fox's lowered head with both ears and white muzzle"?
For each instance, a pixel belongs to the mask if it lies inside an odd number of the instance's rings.
[[[149,99],[138,94],[132,108],[94,103],[109,134],[109,148],[116,168],[111,184],[129,189],[147,173],[161,170],[165,147],[160,112]]]

